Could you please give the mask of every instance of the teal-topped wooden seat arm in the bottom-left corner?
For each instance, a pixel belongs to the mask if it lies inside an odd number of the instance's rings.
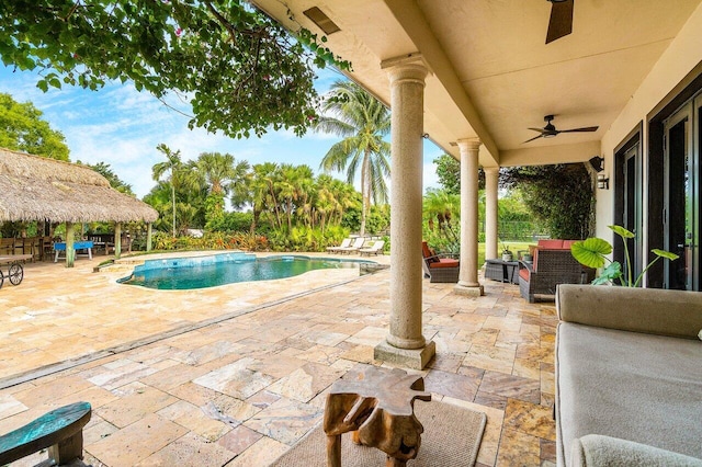
[[[52,410],[24,426],[0,436],[0,466],[48,447],[55,465],[83,458],[83,426],[90,421],[89,402]]]

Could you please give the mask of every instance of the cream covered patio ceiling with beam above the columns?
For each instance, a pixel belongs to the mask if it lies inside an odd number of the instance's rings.
[[[577,0],[573,33],[545,44],[547,0],[254,0],[291,30],[322,34],[303,12],[319,8],[340,31],[330,48],[350,76],[389,102],[384,60],[420,54],[431,70],[424,132],[458,157],[477,137],[484,167],[585,161],[675,39],[700,0]],[[593,133],[539,138],[558,129]]]

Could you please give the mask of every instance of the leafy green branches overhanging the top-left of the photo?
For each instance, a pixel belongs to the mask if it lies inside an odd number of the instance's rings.
[[[316,118],[314,67],[350,65],[301,29],[293,37],[240,0],[12,0],[0,2],[0,57],[37,70],[37,87],[97,90],[132,81],[159,99],[188,96],[190,126],[233,137]],[[293,19],[294,20],[294,19]]]

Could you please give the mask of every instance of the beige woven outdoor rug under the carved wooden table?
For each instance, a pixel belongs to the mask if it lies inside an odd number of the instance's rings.
[[[444,402],[415,402],[415,414],[424,426],[419,455],[407,466],[473,467],[485,430],[485,413]],[[272,466],[317,467],[327,465],[327,435],[321,424],[283,454]],[[343,467],[373,467],[385,465],[385,453],[375,447],[359,446],[351,442],[351,433],[341,435],[341,465]]]

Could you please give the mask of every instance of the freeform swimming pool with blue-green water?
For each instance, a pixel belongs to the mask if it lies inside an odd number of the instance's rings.
[[[122,284],[160,291],[185,291],[215,287],[237,282],[272,281],[321,269],[356,267],[360,274],[372,272],[372,261],[276,255],[257,258],[249,253],[224,253],[208,257],[147,260],[134,267]]]

